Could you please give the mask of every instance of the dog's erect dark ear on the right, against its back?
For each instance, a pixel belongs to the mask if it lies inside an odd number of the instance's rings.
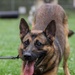
[[[56,23],[55,20],[52,20],[48,26],[46,27],[45,31],[44,31],[46,37],[48,38],[48,40],[50,41],[50,43],[53,42],[53,38],[55,37],[55,33],[56,33]]]

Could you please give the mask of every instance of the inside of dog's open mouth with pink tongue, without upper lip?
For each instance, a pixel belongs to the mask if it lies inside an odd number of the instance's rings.
[[[39,65],[39,63],[44,59],[43,57],[40,57],[36,59],[35,61],[29,62],[26,61],[25,67],[24,67],[24,75],[33,75],[35,68]]]

